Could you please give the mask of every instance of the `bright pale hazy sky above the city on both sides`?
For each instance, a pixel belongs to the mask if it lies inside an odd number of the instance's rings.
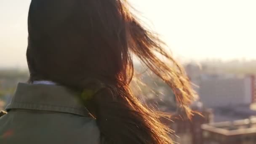
[[[27,67],[30,0],[0,0],[0,67]],[[256,58],[256,0],[130,0],[181,61]]]

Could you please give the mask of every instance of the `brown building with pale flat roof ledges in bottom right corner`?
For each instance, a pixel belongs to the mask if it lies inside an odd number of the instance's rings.
[[[256,118],[202,125],[203,144],[256,144]]]

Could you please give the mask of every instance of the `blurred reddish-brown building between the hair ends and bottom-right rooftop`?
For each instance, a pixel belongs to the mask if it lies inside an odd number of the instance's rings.
[[[178,144],[203,144],[203,135],[201,125],[211,123],[213,115],[211,109],[203,108],[200,102],[191,107],[195,111],[199,111],[201,115],[194,115],[191,120],[182,118],[182,112],[176,112],[171,116],[171,120],[162,118],[161,121],[168,125],[174,131],[173,140]]]

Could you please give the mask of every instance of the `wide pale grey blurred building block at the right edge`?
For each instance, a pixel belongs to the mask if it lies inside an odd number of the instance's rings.
[[[209,108],[252,104],[256,99],[254,83],[254,76],[205,75],[200,80],[200,100]]]

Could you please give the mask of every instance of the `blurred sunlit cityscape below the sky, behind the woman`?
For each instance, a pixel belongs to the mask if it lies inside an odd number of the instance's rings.
[[[184,64],[200,98],[190,107],[200,112],[191,120],[176,106],[170,88],[150,72],[141,72],[133,92],[144,103],[170,115],[161,118],[179,144],[256,144],[256,60],[205,60]],[[0,70],[0,110],[11,101],[19,82],[28,80],[28,72]],[[141,80],[141,83],[139,82]],[[134,86],[136,85],[136,86]],[[136,88],[134,88],[136,87]]]

